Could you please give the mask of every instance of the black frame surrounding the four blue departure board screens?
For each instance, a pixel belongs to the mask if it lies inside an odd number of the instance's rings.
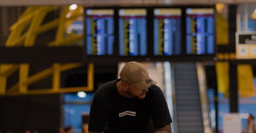
[[[154,9],[156,8],[179,8],[181,14],[181,55],[154,55]],[[214,53],[213,54],[187,54],[186,53],[186,9],[187,8],[212,8],[214,9]],[[113,9],[114,10],[114,37],[113,55],[87,55],[86,51],[86,10],[87,9]],[[147,21],[147,55],[145,56],[120,56],[119,55],[119,15],[120,9],[146,9]],[[216,45],[216,8],[215,5],[172,5],[172,6],[134,6],[134,7],[85,7],[84,8],[84,62],[122,62],[122,61],[214,61],[217,53]]]

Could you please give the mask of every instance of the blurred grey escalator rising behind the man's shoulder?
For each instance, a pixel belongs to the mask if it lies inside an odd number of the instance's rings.
[[[175,133],[212,133],[202,63],[172,63]]]

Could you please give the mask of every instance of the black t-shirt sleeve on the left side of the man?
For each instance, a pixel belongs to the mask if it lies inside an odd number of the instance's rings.
[[[106,120],[106,107],[94,96],[89,114],[88,130],[95,133],[105,131]]]

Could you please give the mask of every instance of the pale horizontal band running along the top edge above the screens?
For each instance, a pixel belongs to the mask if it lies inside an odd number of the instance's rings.
[[[154,5],[189,5],[189,4],[246,4],[256,0],[0,0],[0,6],[45,6],[70,5],[82,6],[154,6]]]

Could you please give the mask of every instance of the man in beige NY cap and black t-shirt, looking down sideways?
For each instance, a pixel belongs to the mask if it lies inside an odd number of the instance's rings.
[[[120,79],[94,94],[89,133],[147,133],[152,119],[156,133],[171,133],[171,116],[161,89],[143,64],[129,62]]]

